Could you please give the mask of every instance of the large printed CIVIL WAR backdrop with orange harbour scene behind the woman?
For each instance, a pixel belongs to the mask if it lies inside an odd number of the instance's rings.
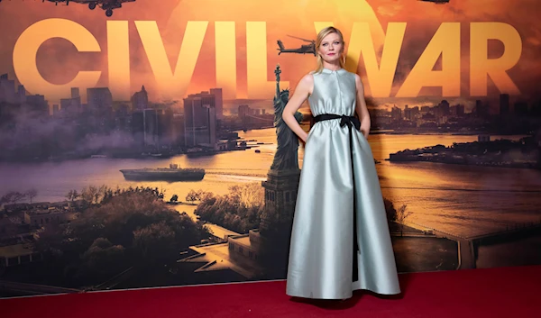
[[[0,295],[285,278],[275,125],[327,25],[366,86],[399,271],[541,263],[539,11],[2,1]]]

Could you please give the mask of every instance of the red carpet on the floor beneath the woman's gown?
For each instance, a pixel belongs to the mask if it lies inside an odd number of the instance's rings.
[[[539,317],[541,266],[400,275],[403,295],[291,300],[285,281],[0,300],[3,318]]]

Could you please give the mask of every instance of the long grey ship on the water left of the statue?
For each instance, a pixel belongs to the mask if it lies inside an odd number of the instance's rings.
[[[122,169],[124,179],[132,181],[200,181],[205,177],[203,168],[179,168],[170,164],[170,168]]]

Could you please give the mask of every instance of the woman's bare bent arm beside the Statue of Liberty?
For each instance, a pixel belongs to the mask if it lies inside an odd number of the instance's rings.
[[[302,77],[298,82],[297,87],[295,87],[295,92],[291,98],[289,98],[288,104],[286,104],[286,107],[282,113],[284,123],[286,123],[289,126],[289,129],[295,132],[304,142],[307,142],[308,134],[298,124],[297,120],[295,119],[295,113],[298,111],[298,108],[300,108],[300,105],[302,105],[307,99],[313,86],[314,77],[312,77],[312,75],[307,74]]]

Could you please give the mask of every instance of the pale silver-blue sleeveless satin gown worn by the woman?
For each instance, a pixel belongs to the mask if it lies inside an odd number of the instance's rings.
[[[353,116],[354,74],[344,68],[324,68],[313,76],[314,90],[308,97],[312,114]],[[348,126],[341,127],[340,122],[318,122],[308,132],[291,233],[286,293],[344,299],[351,297],[355,289],[367,289],[396,295],[400,293],[399,279],[371,147],[362,132],[353,127],[350,150]],[[356,267],[353,214],[359,247]],[[358,274],[356,281],[354,271]]]

